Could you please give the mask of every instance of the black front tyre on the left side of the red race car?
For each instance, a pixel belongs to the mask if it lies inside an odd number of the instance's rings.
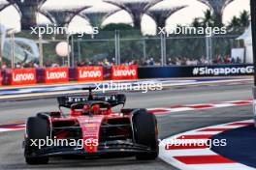
[[[48,157],[33,156],[38,151],[37,146],[31,146],[35,139],[47,139],[49,136],[48,120],[41,117],[29,117],[26,124],[26,138],[24,156],[27,164],[47,164]]]

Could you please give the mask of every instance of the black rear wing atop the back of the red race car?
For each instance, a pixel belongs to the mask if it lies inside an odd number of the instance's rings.
[[[125,104],[126,96],[124,94],[94,94],[91,96],[91,94],[87,96],[66,96],[66,97],[58,97],[57,98],[59,106],[70,108],[72,104],[74,103],[86,103],[89,101],[106,101],[109,102],[112,107],[119,105],[119,104]]]

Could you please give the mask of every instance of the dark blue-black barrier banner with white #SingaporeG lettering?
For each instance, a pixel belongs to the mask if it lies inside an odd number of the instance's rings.
[[[252,64],[138,68],[139,78],[252,75]]]

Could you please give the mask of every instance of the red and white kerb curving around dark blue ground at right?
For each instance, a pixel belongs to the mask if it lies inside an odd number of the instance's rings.
[[[231,124],[239,125],[231,125]],[[217,126],[210,126],[207,128],[198,128],[190,131],[186,131],[175,136],[171,136],[166,140],[172,141],[181,136],[192,136],[196,138],[195,135],[213,135],[222,132],[219,131],[207,131],[206,129],[225,129],[225,128],[240,128],[253,124],[253,120],[246,120],[240,122],[228,123]],[[245,124],[244,124],[245,123]],[[243,126],[240,124],[244,124]],[[204,131],[206,130],[206,131]],[[199,133],[200,131],[200,133]],[[173,147],[166,150],[165,145],[160,145],[160,158],[166,161],[169,164],[176,166],[182,170],[255,170],[255,168],[248,167],[246,165],[235,162],[231,159],[228,159],[223,156],[219,156],[216,153],[212,152],[208,147],[203,149],[182,148],[182,147]],[[211,160],[210,160],[211,158]]]

